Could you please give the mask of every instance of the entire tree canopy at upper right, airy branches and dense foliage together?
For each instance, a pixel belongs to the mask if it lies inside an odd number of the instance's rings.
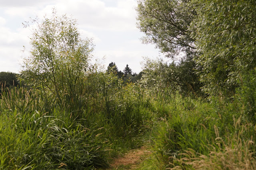
[[[197,64],[186,69],[200,75],[206,93],[232,94],[255,69],[254,0],[138,0],[137,12],[144,42],[167,57],[185,52],[184,61]]]

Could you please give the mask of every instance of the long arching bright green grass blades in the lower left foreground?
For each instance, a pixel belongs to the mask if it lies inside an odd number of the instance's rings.
[[[84,169],[106,166],[104,140],[84,120],[60,111],[52,115],[1,114],[0,150],[4,169]],[[7,121],[8,120],[8,121]]]

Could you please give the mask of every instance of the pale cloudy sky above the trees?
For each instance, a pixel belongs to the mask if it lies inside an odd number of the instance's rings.
[[[105,68],[115,62],[121,71],[128,64],[139,73],[143,57],[163,57],[155,45],[140,41],[144,34],[136,28],[136,0],[0,0],[0,4],[0,72],[22,70],[32,35],[22,23],[50,17],[53,8],[59,16],[77,19],[81,37],[93,39],[92,55]]]

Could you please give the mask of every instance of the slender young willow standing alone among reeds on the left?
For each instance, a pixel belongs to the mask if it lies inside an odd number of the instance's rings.
[[[43,87],[62,105],[80,101],[83,78],[93,51],[92,41],[82,40],[76,20],[66,15],[33,21],[30,55],[22,78],[30,87]],[[25,25],[28,26],[27,24]],[[67,99],[65,102],[64,99]]]

